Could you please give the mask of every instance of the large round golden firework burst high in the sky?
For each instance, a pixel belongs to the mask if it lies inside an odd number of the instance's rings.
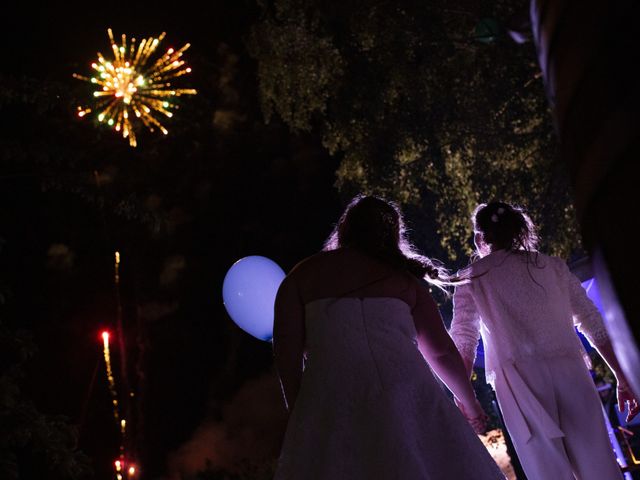
[[[107,32],[113,59],[106,59],[98,52],[98,61],[91,64],[96,72],[94,76],[73,74],[74,78],[100,87],[93,92],[95,107],[79,106],[78,116],[95,112],[100,122],[106,122],[123,138],[128,138],[132,147],[137,145],[137,121],[152,132],[158,128],[166,135],[169,132],[158,116],[171,118],[171,110],[177,108],[174,103],[176,97],[196,94],[192,88],[175,88],[171,84],[177,77],[191,73],[191,68],[182,59],[190,44],[178,50],[169,48],[164,55],[157,57],[158,45],[166,35],[164,32],[157,38],[145,38],[140,43],[135,38],[128,42],[123,34],[119,45],[111,29]]]

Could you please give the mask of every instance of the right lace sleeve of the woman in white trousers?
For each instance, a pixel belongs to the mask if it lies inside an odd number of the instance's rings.
[[[582,288],[578,277],[571,273],[569,267],[563,261],[560,261],[560,263],[562,263],[562,277],[569,290],[573,323],[589,339],[592,345],[598,347],[608,343],[609,335],[602,315],[600,315],[596,306],[587,296],[587,292]]]

